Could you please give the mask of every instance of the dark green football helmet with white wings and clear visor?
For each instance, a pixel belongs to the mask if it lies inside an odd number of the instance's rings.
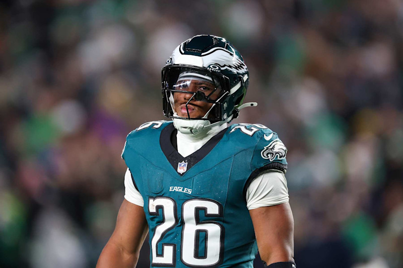
[[[200,83],[205,86],[194,86]],[[176,128],[191,133],[228,123],[238,117],[240,109],[257,106],[242,105],[248,84],[248,68],[231,43],[218,36],[196,35],[176,47],[162,68],[164,115],[173,118]],[[175,112],[175,93],[189,95],[186,117]],[[204,116],[192,118],[187,107],[192,101],[212,105]]]

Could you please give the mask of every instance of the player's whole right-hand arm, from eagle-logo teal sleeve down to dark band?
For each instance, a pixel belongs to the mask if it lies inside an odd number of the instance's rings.
[[[261,259],[270,268],[294,268],[294,219],[285,177],[287,148],[277,133],[262,132],[251,161],[254,171],[246,185],[246,204]]]

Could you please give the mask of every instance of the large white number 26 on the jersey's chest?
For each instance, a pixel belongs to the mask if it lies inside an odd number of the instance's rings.
[[[150,215],[160,216],[162,211],[163,222],[154,229],[151,239],[152,265],[175,266],[176,244],[162,243],[162,250],[158,252],[158,243],[164,235],[178,224],[176,202],[168,197],[150,198],[148,210]],[[187,266],[209,267],[222,262],[224,246],[224,227],[214,221],[199,220],[199,211],[204,211],[206,217],[222,217],[222,205],[211,199],[191,199],[182,205],[182,237],[181,261]],[[205,248],[199,254],[199,239],[205,235]]]

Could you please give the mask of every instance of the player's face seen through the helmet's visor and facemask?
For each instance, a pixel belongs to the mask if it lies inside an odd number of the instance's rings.
[[[212,107],[212,103],[203,101],[193,101],[193,99],[187,105],[193,94],[197,91],[203,92],[206,96],[210,96],[210,100],[217,100],[219,97],[219,91],[216,90],[214,84],[204,80],[180,80],[175,85],[175,90],[186,91],[188,93],[175,92],[173,94],[175,102],[175,112],[179,117],[188,117],[187,112],[191,118],[204,117],[206,113]]]

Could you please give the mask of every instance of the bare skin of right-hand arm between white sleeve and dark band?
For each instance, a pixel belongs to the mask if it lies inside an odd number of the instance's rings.
[[[289,203],[249,210],[260,257],[267,264],[294,257],[294,219]]]

